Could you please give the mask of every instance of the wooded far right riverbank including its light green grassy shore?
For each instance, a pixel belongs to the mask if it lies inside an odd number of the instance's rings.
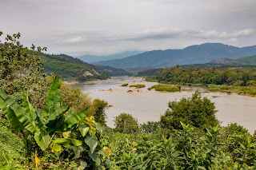
[[[147,81],[206,86],[210,91],[256,95],[256,68],[222,66],[212,69],[165,68]]]

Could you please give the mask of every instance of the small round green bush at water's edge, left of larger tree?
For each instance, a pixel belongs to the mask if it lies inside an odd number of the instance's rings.
[[[114,117],[114,126],[118,132],[138,132],[138,120],[131,114],[121,113],[118,117]]]

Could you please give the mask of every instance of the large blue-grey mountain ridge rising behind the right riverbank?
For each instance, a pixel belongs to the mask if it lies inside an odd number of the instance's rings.
[[[238,48],[222,43],[205,43],[191,45],[185,49],[148,51],[122,59],[98,61],[94,62],[94,64],[110,65],[122,69],[134,67],[162,68],[165,66],[207,63],[221,58],[237,59],[255,54],[256,45]]]

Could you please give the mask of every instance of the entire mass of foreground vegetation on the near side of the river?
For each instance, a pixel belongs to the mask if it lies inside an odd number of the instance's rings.
[[[109,128],[107,102],[46,77],[39,53],[19,37],[0,44],[1,169],[256,168],[255,134],[220,128],[214,103],[200,93],[171,101],[159,122],[139,125],[122,113]]]

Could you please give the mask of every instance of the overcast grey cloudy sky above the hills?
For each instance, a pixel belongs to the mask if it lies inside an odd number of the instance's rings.
[[[255,9],[256,0],[0,0],[0,31],[74,57],[204,42],[242,47],[256,45]]]

